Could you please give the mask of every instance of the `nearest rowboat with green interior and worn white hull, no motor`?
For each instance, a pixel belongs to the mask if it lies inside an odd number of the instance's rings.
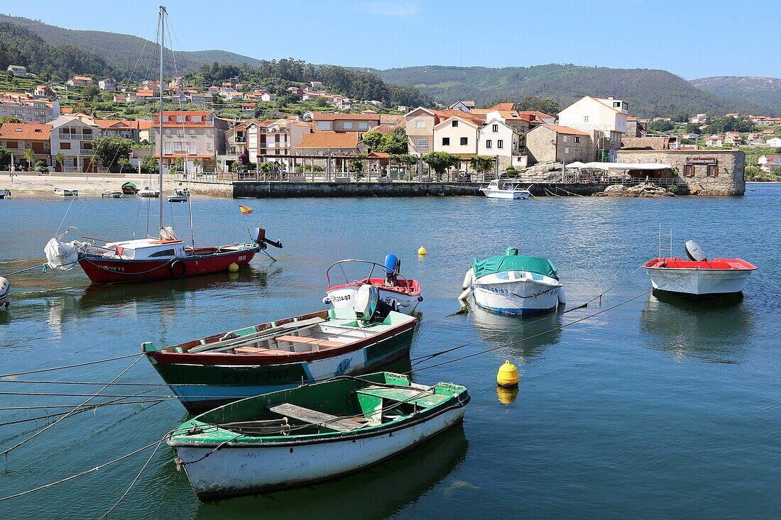
[[[221,500],[369,468],[459,424],[468,403],[453,383],[340,376],[226,404],[184,422],[167,443],[198,499]]]

